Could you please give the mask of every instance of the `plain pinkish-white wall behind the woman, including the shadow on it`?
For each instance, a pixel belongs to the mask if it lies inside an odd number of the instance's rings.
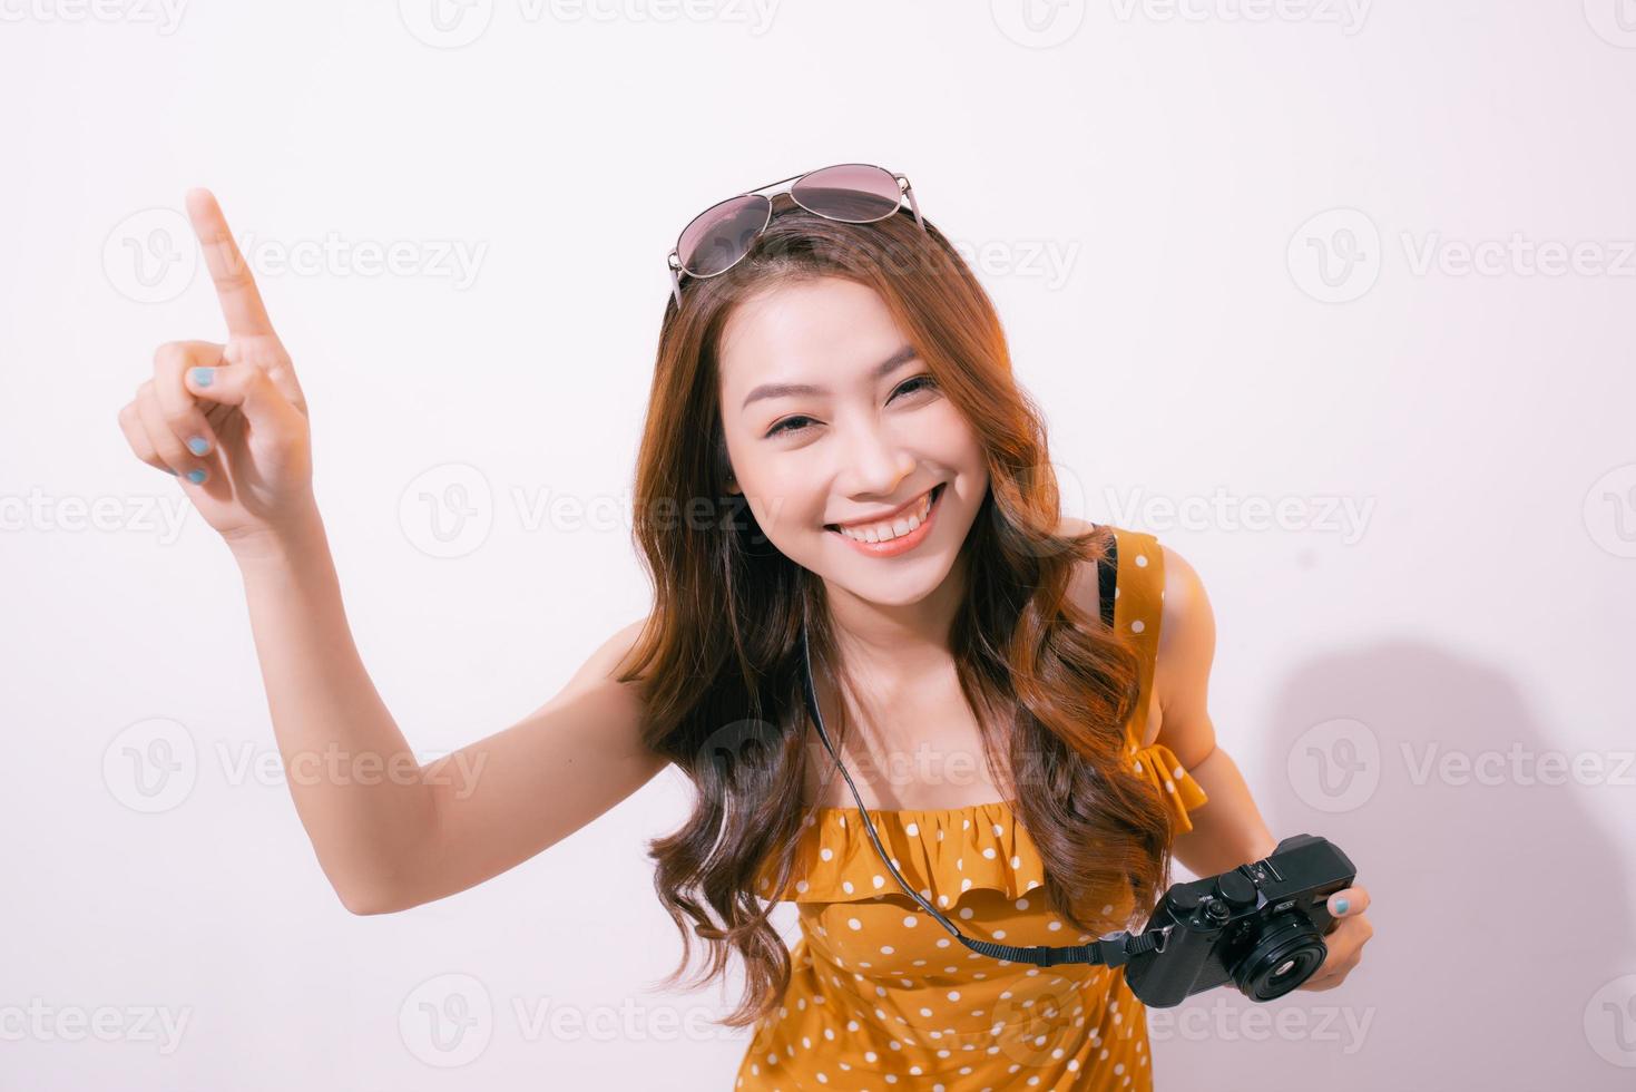
[[[1629,0],[0,20],[0,1087],[730,1087],[721,994],[651,989],[679,941],[645,842],[685,784],[348,915],[237,570],[115,416],[160,342],[222,339],[182,219],[208,185],[430,760],[648,609],[628,488],[676,234],[849,160],[973,255],[1070,514],[1198,568],[1220,745],[1373,894],[1343,987],[1150,1010],[1158,1087],[1636,1079]]]

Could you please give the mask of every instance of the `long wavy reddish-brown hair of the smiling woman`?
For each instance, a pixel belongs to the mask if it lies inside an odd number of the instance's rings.
[[[775,904],[751,887],[771,861],[785,889],[810,810],[803,617],[815,673],[836,666],[823,581],[774,548],[743,494],[726,490],[718,339],[751,293],[813,277],[874,288],[980,437],[990,486],[962,545],[969,588],[951,652],[990,771],[1039,846],[1047,900],[1104,933],[1137,915],[1145,923],[1168,886],[1170,810],[1130,771],[1122,732],[1139,697],[1137,653],[1067,594],[1106,539],[1058,534],[1042,416],[1011,373],[987,291],[926,226],[908,211],[843,224],[780,206],[738,265],[684,280],[682,306],[669,301],[659,331],[633,526],[654,609],[620,681],[641,679],[643,738],[697,791],[685,824],[649,843],[654,887],[682,935],[664,984],[692,963],[694,936],[707,958],[690,984],[721,976],[736,951],[744,994],[721,1022],[733,1027],[777,1007],[790,977],[767,920]],[[1132,917],[1099,920],[1091,892],[1119,884]]]

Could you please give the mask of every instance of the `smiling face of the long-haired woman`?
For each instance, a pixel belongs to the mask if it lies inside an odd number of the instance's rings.
[[[880,296],[839,277],[771,288],[733,309],[718,355],[728,488],[767,539],[870,602],[931,594],[988,468]]]

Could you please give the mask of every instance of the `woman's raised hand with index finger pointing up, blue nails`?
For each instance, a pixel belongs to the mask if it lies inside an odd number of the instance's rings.
[[[187,206],[227,342],[160,345],[119,427],[136,457],[177,475],[204,522],[236,545],[312,509],[306,399],[216,198],[190,190]]]

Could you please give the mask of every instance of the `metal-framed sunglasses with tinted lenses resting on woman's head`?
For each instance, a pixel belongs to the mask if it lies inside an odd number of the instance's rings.
[[[910,180],[885,167],[836,164],[780,178],[712,205],[682,228],[676,249],[666,255],[676,306],[682,306],[682,273],[695,278],[717,277],[749,254],[756,236],[772,223],[772,198],[780,193],[789,193],[790,200],[815,216],[844,224],[885,219],[903,208],[903,198],[908,198],[915,223],[926,231]]]

